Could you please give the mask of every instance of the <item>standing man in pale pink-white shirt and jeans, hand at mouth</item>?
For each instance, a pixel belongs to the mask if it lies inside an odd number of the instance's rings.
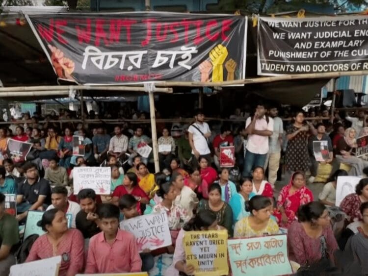
[[[268,152],[268,137],[273,132],[273,119],[266,116],[267,109],[259,103],[254,117],[248,117],[245,131],[248,134],[243,176],[251,176],[255,167],[264,167]]]

